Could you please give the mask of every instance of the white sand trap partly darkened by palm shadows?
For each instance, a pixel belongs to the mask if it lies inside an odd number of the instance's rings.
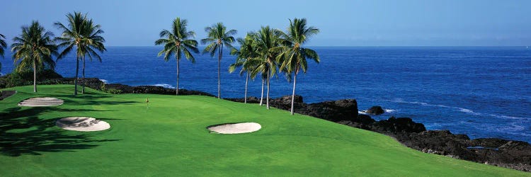
[[[57,125],[57,127],[62,127],[65,130],[80,132],[101,131],[110,128],[108,122],[87,117],[62,118],[57,120],[55,125]]]

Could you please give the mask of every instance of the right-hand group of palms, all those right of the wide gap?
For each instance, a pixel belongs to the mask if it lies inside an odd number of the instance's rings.
[[[159,56],[164,54],[166,61],[173,55],[177,60],[177,87],[179,80],[179,60],[184,55],[190,62],[195,62],[192,52],[198,53],[198,42],[193,40],[195,33],[186,29],[187,21],[176,18],[173,21],[171,30],[162,30],[161,39],[155,41],[155,45],[164,45],[164,49],[159,52]],[[207,44],[202,53],[209,53],[211,57],[217,54],[218,57],[218,84],[217,97],[221,98],[221,59],[223,48],[227,47],[231,55],[236,55],[236,62],[231,64],[229,72],[234,72],[241,67],[240,74],[246,74],[245,103],[247,103],[247,85],[249,78],[254,79],[260,76],[262,79],[262,94],[260,105],[263,105],[264,85],[267,85],[265,104],[269,109],[269,88],[270,79],[285,74],[288,80],[293,81],[291,114],[293,115],[295,86],[297,84],[297,74],[307,72],[307,59],[312,59],[319,63],[319,55],[314,50],[303,47],[312,35],[319,33],[319,29],[308,26],[305,18],[295,18],[290,20],[287,31],[273,29],[269,26],[262,27],[256,32],[247,33],[245,38],[235,39],[236,30],[227,30],[223,23],[216,23],[205,28],[207,38],[202,39],[202,44]],[[238,42],[239,49],[232,46]]]

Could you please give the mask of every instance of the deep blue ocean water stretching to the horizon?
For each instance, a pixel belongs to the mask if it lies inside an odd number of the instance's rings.
[[[450,130],[471,138],[498,137],[531,142],[531,48],[526,47],[313,47],[321,63],[309,62],[297,78],[297,94],[307,103],[355,98],[360,110],[382,105],[388,113],[409,117],[428,130]],[[108,83],[176,85],[175,59],[156,57],[161,47],[108,47],[103,62],[87,62],[86,76]],[[229,52],[225,51],[224,54]],[[2,73],[11,72],[6,53]],[[195,55],[181,62],[182,89],[217,94],[217,57]],[[234,57],[222,59],[222,97],[244,96],[245,77],[229,74]],[[75,74],[71,56],[57,72]],[[281,74],[270,95],[290,95],[292,84]],[[260,97],[261,81],[249,96]]]

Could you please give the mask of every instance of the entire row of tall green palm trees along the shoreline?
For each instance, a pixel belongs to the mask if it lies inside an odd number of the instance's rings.
[[[179,63],[184,56],[190,62],[195,63],[193,53],[200,53],[198,41],[194,40],[195,33],[187,29],[188,21],[175,18],[170,30],[161,30],[160,39],[155,40],[155,45],[163,45],[164,48],[158,56],[164,55],[167,62],[171,57],[175,57],[176,68],[176,95],[179,94]],[[54,23],[54,26],[62,33],[55,38],[54,34],[45,30],[38,21],[33,21],[29,26],[22,27],[21,35],[13,38],[11,51],[13,60],[17,63],[16,70],[33,69],[33,91],[37,92],[36,74],[37,70],[47,66],[53,69],[55,62],[63,59],[68,54],[76,54],[76,77],[74,79],[74,95],[77,94],[79,80],[79,62],[81,62],[82,89],[85,91],[85,61],[86,57],[93,58],[101,62],[100,53],[106,51],[105,39],[101,36],[103,30],[101,25],[93,23],[87,14],[80,12],[68,13],[67,23]],[[236,30],[227,30],[223,23],[215,23],[205,28],[207,38],[200,40],[202,45],[207,45],[202,54],[209,54],[211,57],[217,55],[218,59],[218,84],[217,98],[221,98],[221,60],[223,50],[229,50],[230,55],[236,56],[236,61],[230,65],[229,72],[240,69],[240,74],[246,74],[245,103],[247,102],[247,86],[249,79],[256,79],[257,76],[262,81],[262,93],[260,105],[263,105],[264,86],[266,86],[265,105],[269,109],[269,89],[270,79],[278,74],[285,74],[289,81],[293,82],[292,108],[295,99],[295,88],[297,84],[297,74],[307,72],[307,59],[319,63],[319,55],[303,45],[313,35],[319,33],[319,29],[307,25],[305,18],[290,19],[290,24],[285,31],[273,29],[269,26],[262,26],[260,30],[249,32],[245,38],[234,38]],[[239,44],[239,48],[233,46],[234,42]],[[6,48],[5,36],[0,34],[0,55],[4,57]],[[62,50],[62,51],[59,51]],[[57,59],[54,61],[52,57]],[[1,66],[1,65],[0,65]]]

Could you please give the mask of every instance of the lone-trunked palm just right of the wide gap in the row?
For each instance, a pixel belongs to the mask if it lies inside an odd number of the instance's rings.
[[[181,18],[175,18],[173,24],[171,25],[170,30],[162,30],[160,33],[161,39],[155,41],[155,45],[164,45],[164,49],[159,52],[158,57],[164,54],[164,60],[168,62],[171,55],[175,55],[177,59],[177,86],[176,86],[176,95],[179,94],[179,61],[181,56],[184,54],[186,59],[190,62],[195,63],[195,58],[193,57],[190,50],[195,53],[198,53],[198,41],[190,40],[195,33],[193,31],[186,30],[187,21],[182,20]]]

